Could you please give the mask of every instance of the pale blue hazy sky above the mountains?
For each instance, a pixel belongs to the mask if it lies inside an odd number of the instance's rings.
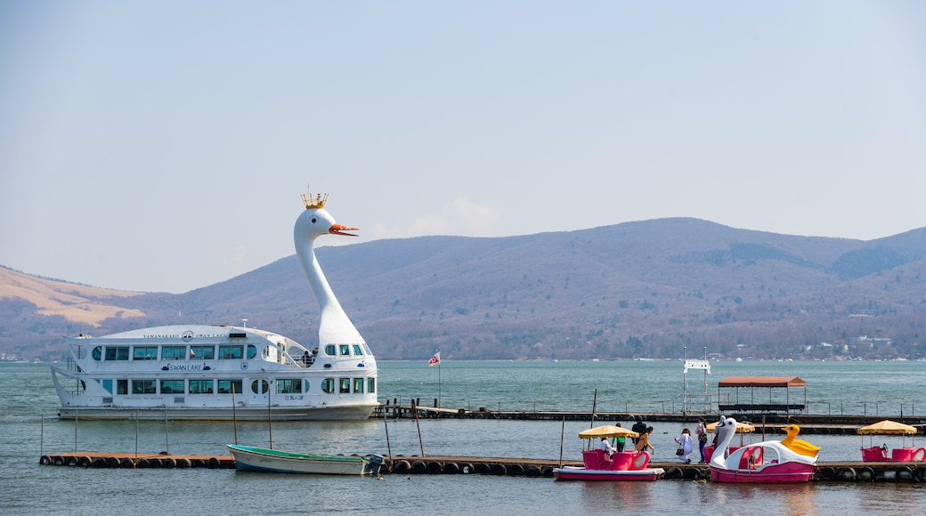
[[[307,187],[351,243],[877,239],[926,226],[926,2],[0,0],[0,174],[0,264],[116,289],[293,254]]]

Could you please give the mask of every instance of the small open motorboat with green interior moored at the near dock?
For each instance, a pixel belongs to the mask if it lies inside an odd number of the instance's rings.
[[[382,455],[314,455],[279,449],[226,445],[239,470],[279,473],[378,474]]]

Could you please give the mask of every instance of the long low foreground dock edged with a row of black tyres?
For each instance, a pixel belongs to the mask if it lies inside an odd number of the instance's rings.
[[[231,455],[165,455],[76,451],[43,455],[39,463],[47,466],[83,468],[208,468],[234,469]],[[385,459],[381,474],[489,474],[553,478],[553,469],[582,466],[581,461],[544,459],[510,459],[498,457],[403,456]],[[709,481],[707,464],[650,462],[649,467],[662,468],[668,480]],[[816,481],[871,483],[926,483],[926,462],[820,462],[814,468]]]

